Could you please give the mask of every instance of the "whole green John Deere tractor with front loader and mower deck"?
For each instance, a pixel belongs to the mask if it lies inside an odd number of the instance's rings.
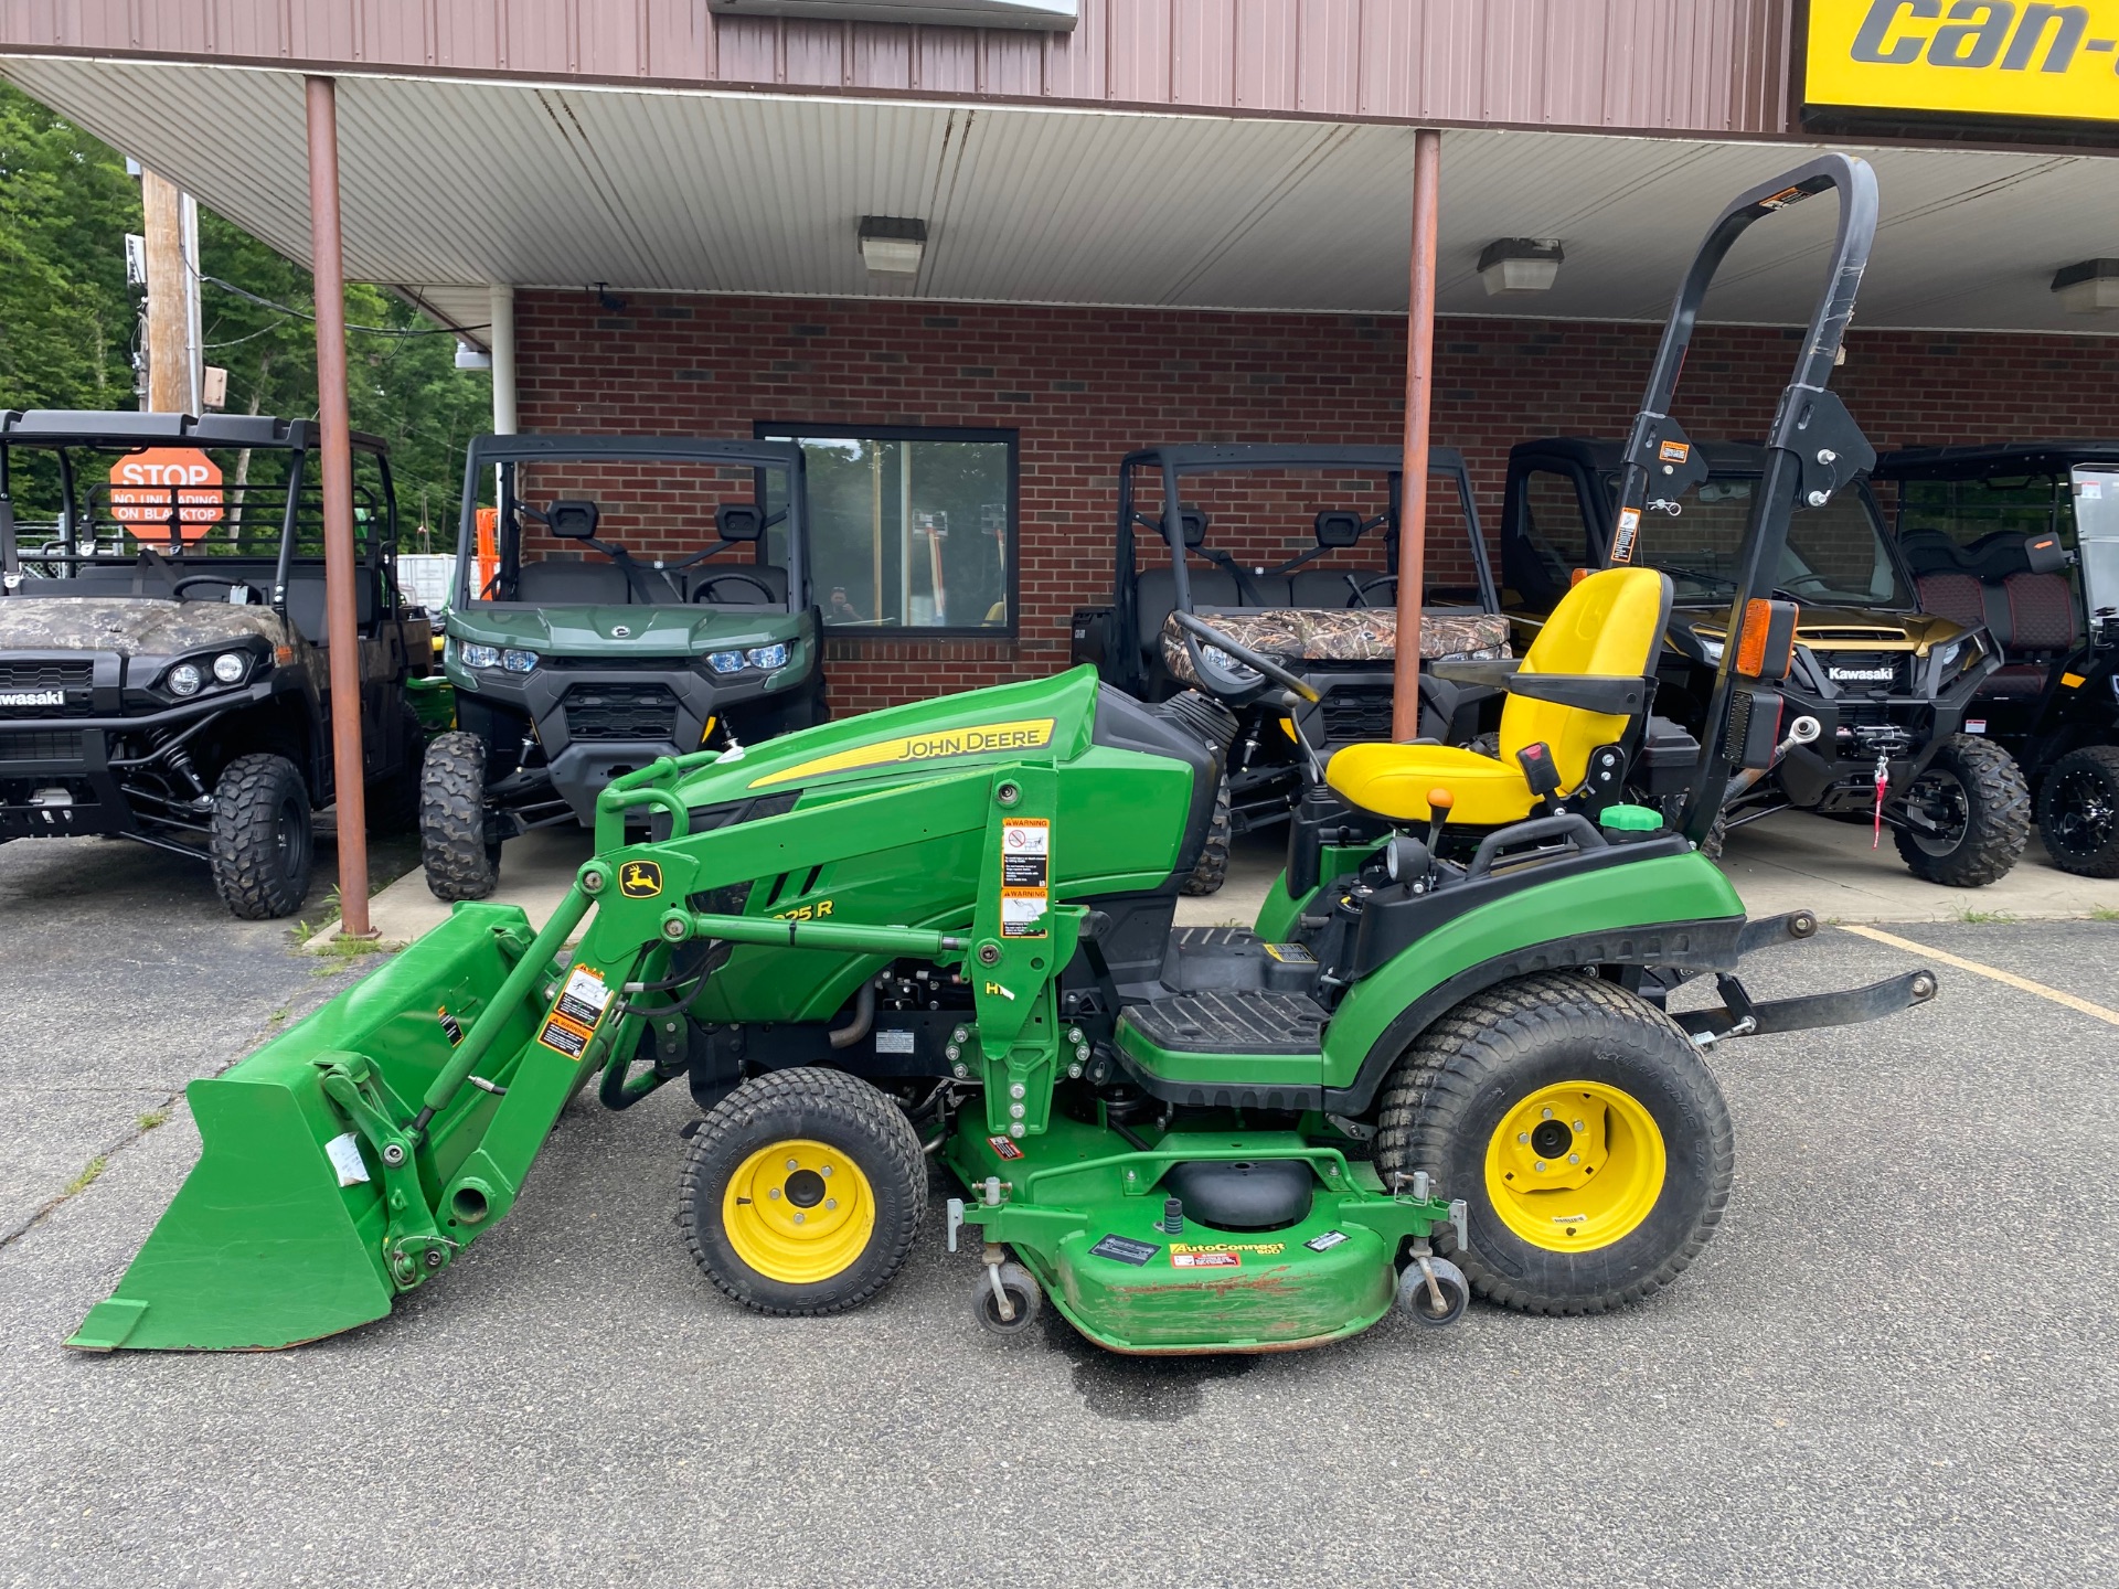
[[[1824,381],[1875,222],[1867,165],[1818,159],[1723,214],[1642,415],[1668,405],[1727,244],[1827,189],[1831,290],[1755,498],[1746,600],[1801,456],[1820,432],[1858,445]],[[1632,470],[1625,498],[1644,496]],[[1712,807],[1691,837],[1625,805],[1589,820],[1579,792],[1646,710],[1666,608],[1663,574],[1602,572],[1519,669],[1473,663],[1509,689],[1507,761],[1341,750],[1333,788],[1388,839],[1312,847],[1322,881],[1282,890],[1254,934],[1172,930],[1218,754],[1191,708],[1087,667],[621,775],[540,932],[460,905],[191,1085],[203,1157],[72,1345],[288,1345],[381,1318],[506,1216],[572,1093],[627,1108],[678,1076],[704,1110],[680,1225],[765,1314],[888,1284],[928,1159],[960,1189],[949,1244],[981,1231],[968,1301],[1002,1333],[1049,1299],[1121,1352],[1265,1352],[1392,1305],[1445,1324],[1473,1290],[1534,1311],[1640,1299],[1729,1197],[1706,1047],[1935,992],[1916,970],[1757,1004],[1738,960],[1816,924],[1744,920],[1693,845]],[[1180,627],[1231,710],[1316,693],[1206,619]],[[1774,710],[1771,667],[1752,672],[1723,669],[1702,788],[1729,771],[1723,725]],[[1443,822],[1452,797],[1481,833]],[[638,811],[661,837],[627,839]],[[1721,1004],[1666,1013],[1702,975]]]

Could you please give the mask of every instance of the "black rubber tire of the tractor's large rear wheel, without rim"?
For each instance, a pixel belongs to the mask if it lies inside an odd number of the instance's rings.
[[[1666,1174],[1638,1227],[1587,1252],[1519,1237],[1485,1184],[1488,1142],[1532,1093],[1560,1083],[1617,1087],[1663,1138]],[[1443,1197],[1466,1201],[1464,1233],[1437,1248],[1473,1290],[1526,1314],[1602,1314],[1668,1286],[1721,1225],[1735,1174],[1729,1106],[1668,1015],[1581,972],[1541,972],[1458,1004],[1405,1051],[1379,1100],[1375,1163],[1426,1170]]]

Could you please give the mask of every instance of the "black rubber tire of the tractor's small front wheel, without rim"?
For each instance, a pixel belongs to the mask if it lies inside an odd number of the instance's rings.
[[[867,1178],[875,1227],[829,1280],[793,1284],[752,1269],[723,1229],[729,1180],[773,1142],[822,1142]],[[875,1297],[905,1265],[926,1216],[928,1161],[892,1100],[843,1070],[795,1066],[752,1076],[699,1123],[678,1184],[678,1227],[699,1269],[731,1301],[776,1318],[843,1314]]]

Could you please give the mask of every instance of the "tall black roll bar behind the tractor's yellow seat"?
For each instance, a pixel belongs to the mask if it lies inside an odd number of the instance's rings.
[[[1699,735],[1699,763],[1678,828],[1699,843],[1714,828],[1723,792],[1729,782],[1729,697],[1735,689],[1735,659],[1750,602],[1774,591],[1774,570],[1788,544],[1788,521],[1799,508],[1822,508],[1833,492],[1875,466],[1875,449],[1863,436],[1854,415],[1831,390],[1833,364],[1848,320],[1854,318],[1854,294],[1860,290],[1869,246],[1875,242],[1875,172],[1867,161],[1848,155],[1818,159],[1761,182],[1733,199],[1708,227],[1693,265],[1685,271],[1678,297],[1663,322],[1663,341],[1655,350],[1649,373],[1649,394],[1634,415],[1625,443],[1625,468],[1619,483],[1619,511],[1610,534],[1610,564],[1634,561],[1640,538],[1640,515],[1649,492],[1659,500],[1676,498],[1708,477],[1706,458],[1670,417],[1670,400],[1678,390],[1685,352],[1693,341],[1699,305],[1714,271],[1729,248],[1752,222],[1801,203],[1818,193],[1839,195],[1839,225],[1833,237],[1831,273],[1810,314],[1795,373],[1780,392],[1774,426],[1765,439],[1765,470],[1750,502],[1744,542],[1738,549],[1735,593],[1729,597],[1729,633],[1723,640],[1721,665],[1714,672],[1714,697]]]

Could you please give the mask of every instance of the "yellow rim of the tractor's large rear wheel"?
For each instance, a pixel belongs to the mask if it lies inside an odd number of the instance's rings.
[[[1485,1144],[1485,1195],[1532,1246],[1593,1252],[1649,1218],[1668,1167],[1663,1133],[1640,1100],[1564,1081],[1502,1114]]]

